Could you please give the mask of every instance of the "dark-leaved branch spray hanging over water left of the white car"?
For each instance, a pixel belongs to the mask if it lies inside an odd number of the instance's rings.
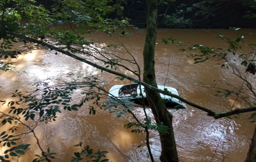
[[[35,85],[36,90],[26,93],[16,90],[12,97],[17,99],[8,102],[9,114],[22,115],[25,120],[34,120],[38,112],[39,122],[47,123],[51,120],[55,121],[56,114],[61,113],[61,109],[77,111],[88,100],[95,100],[95,103],[99,105],[100,90],[103,89],[102,82],[93,76],[81,79],[85,81],[74,80],[70,83],[63,82],[52,86],[46,82],[38,82]],[[84,90],[81,94],[85,97],[78,104],[70,104],[72,94],[81,88]],[[6,101],[2,102],[6,103]],[[22,108],[21,104],[26,104],[26,107]],[[93,110],[93,107],[90,109]]]

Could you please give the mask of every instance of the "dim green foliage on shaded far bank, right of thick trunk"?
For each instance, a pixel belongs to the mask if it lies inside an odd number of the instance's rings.
[[[232,11],[227,11],[230,8]],[[228,15],[234,13],[236,13],[235,18],[239,20],[255,19],[255,9],[254,0],[176,0],[169,1],[163,22],[169,28],[209,28],[216,26],[214,23],[221,20],[218,17],[220,15],[223,15],[228,23],[232,21]],[[225,24],[217,24],[218,27],[221,25],[225,26]]]

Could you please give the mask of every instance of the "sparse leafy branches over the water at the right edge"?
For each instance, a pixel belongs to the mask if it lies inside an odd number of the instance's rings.
[[[239,30],[239,28],[232,28],[232,30]],[[256,92],[252,82],[248,79],[248,73],[255,75],[256,72],[256,45],[249,44],[251,51],[248,53],[240,53],[239,50],[242,48],[241,43],[244,39],[243,35],[237,37],[235,40],[231,40],[223,35],[216,35],[216,37],[228,43],[227,51],[223,51],[221,48],[215,49],[204,45],[193,45],[192,47],[188,47],[188,49],[200,52],[200,54],[191,54],[194,58],[194,63],[197,64],[205,62],[206,60],[223,61],[223,63],[218,63],[219,66],[224,69],[230,68],[234,76],[241,79],[242,85],[236,87],[231,83],[226,83],[230,89],[217,87],[216,85],[209,86],[218,89],[217,94],[214,95],[239,101],[249,107],[254,107],[256,105]],[[244,69],[244,71],[241,69]],[[255,114],[252,114],[252,117],[254,116]]]

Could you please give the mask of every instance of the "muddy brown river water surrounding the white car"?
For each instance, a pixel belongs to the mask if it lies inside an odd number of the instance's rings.
[[[142,52],[145,39],[144,30],[132,31],[130,38],[121,38],[124,45],[135,56],[142,67]],[[245,35],[243,51],[249,51],[248,44],[256,43],[256,31],[243,29],[237,32],[226,29],[159,29],[156,40],[156,79],[158,84],[165,84],[179,90],[180,96],[215,111],[225,111],[232,108],[233,100],[213,96],[215,89],[202,87],[202,85],[218,85],[225,87],[225,82],[235,85],[241,84],[239,79],[233,77],[230,71],[221,69],[216,62],[193,64],[193,58],[188,57],[191,51],[180,51],[176,45],[164,45],[161,38],[172,37],[189,44],[203,44],[210,47],[222,47],[226,49],[226,43],[214,37],[215,34],[223,34],[229,38],[235,38],[240,34]],[[117,39],[102,33],[92,33],[88,38],[98,40],[99,43],[117,43]],[[58,79],[66,79],[70,73],[80,72],[82,76],[97,75],[108,83],[110,88],[116,84],[128,84],[130,81],[120,81],[114,75],[101,72],[87,64],[69,58],[65,55],[54,55],[53,51],[33,51],[23,54],[15,62],[18,62],[16,72],[1,72],[0,74],[0,98],[11,100],[10,94],[16,89],[29,90],[33,83],[48,80],[54,84]],[[14,61],[14,60],[13,60]],[[130,64],[126,66],[131,67]],[[142,67],[143,68],[143,67]],[[121,70],[131,75],[126,70]],[[132,75],[131,75],[132,76]],[[251,78],[255,80],[255,77]],[[213,81],[215,80],[215,81]],[[255,87],[255,83],[253,82]],[[80,99],[80,94],[74,95],[74,102]],[[55,162],[69,162],[76,147],[73,145],[83,141],[93,149],[108,151],[107,158],[113,162],[148,162],[145,145],[142,144],[144,134],[130,133],[123,125],[132,121],[131,118],[116,119],[114,114],[107,111],[97,111],[97,115],[89,115],[88,107],[91,102],[85,104],[79,111],[62,111],[56,122],[39,123],[35,129],[43,149],[50,147],[56,152]],[[235,104],[239,108],[241,105]],[[1,111],[7,111],[4,106]],[[170,110],[174,115],[174,132],[180,161],[183,162],[243,162],[245,160],[249,143],[255,124],[248,119],[250,113],[239,115],[237,118],[213,119],[204,111],[188,106],[186,110]],[[150,114],[150,111],[148,111]],[[143,110],[136,107],[134,113],[143,118]],[[152,116],[152,115],[151,115]],[[30,126],[35,123],[28,123]],[[1,132],[8,126],[1,127]],[[22,131],[22,130],[21,130]],[[151,132],[151,147],[154,158],[159,161],[161,145],[158,133]],[[19,162],[29,162],[35,158],[33,155],[40,153],[35,139],[27,134],[22,139],[23,143],[32,143],[31,151],[19,158]],[[1,152],[7,149],[1,148]]]

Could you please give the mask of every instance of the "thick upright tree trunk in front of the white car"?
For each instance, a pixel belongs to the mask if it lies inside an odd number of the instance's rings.
[[[143,81],[154,87],[157,87],[155,69],[154,69],[154,51],[156,43],[156,26],[157,26],[157,4],[158,0],[147,0],[148,19],[145,46],[143,51],[144,73]],[[161,162],[177,162],[178,153],[174,139],[172,127],[172,114],[169,113],[161,99],[159,92],[150,90],[145,87],[147,99],[152,109],[156,122],[168,126],[168,134],[160,134],[161,139]]]

